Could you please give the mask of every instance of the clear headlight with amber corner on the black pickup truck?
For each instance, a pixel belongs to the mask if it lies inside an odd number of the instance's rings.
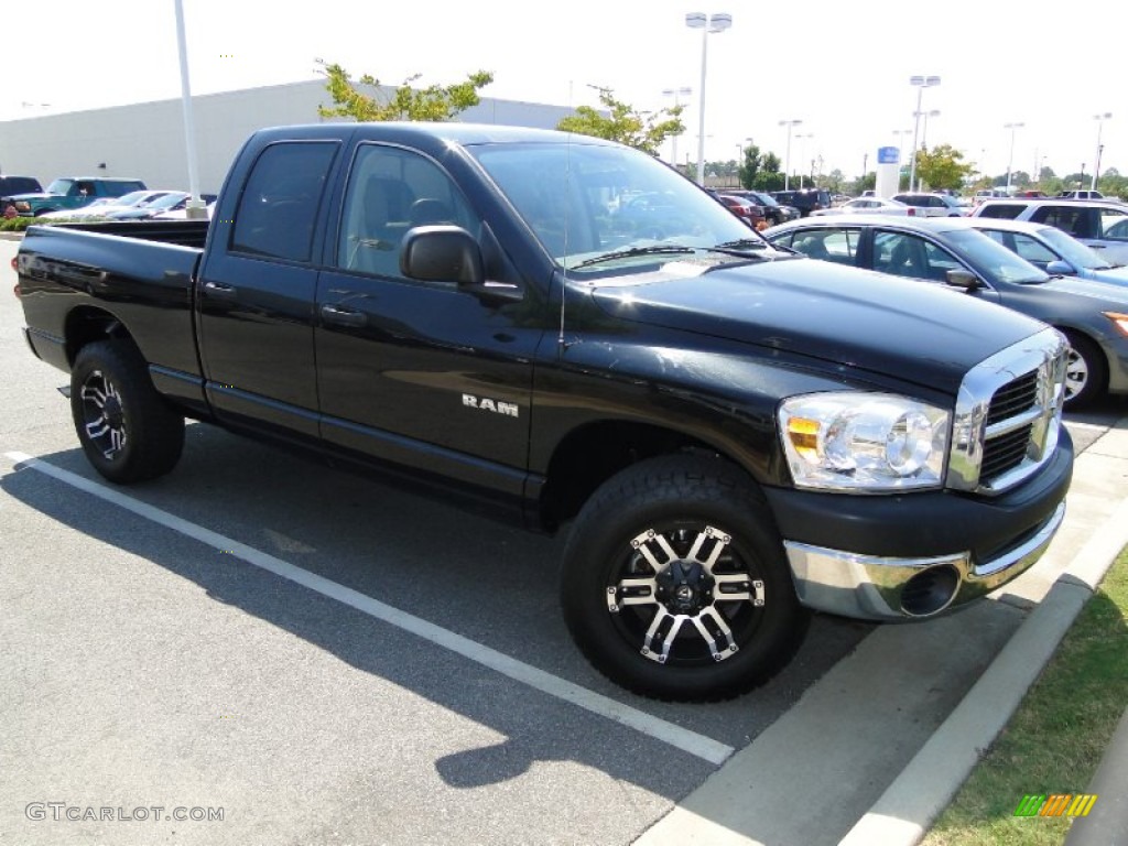
[[[951,418],[892,394],[807,394],[779,406],[797,487],[880,492],[940,487]]]

